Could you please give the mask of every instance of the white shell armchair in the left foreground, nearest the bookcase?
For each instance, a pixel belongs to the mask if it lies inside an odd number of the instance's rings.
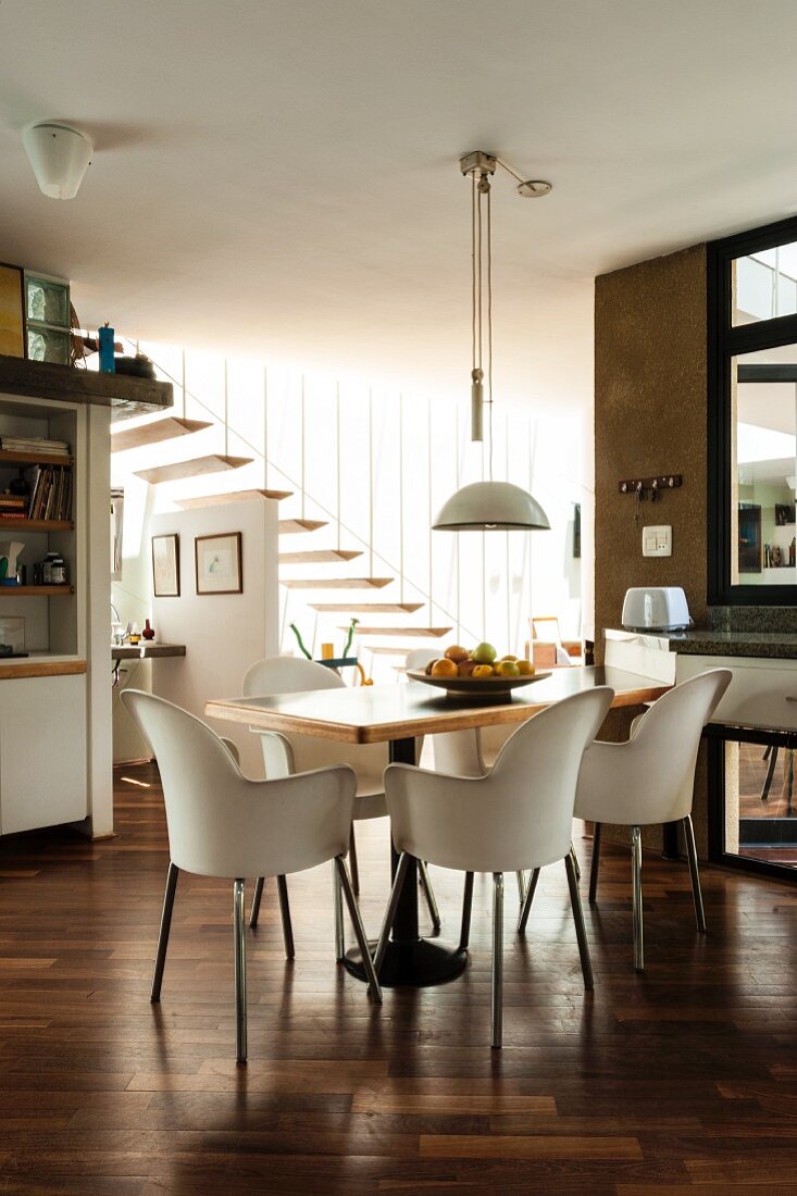
[[[166,806],[169,874],[150,1000],[160,1000],[171,911],[180,871],[233,880],[236,1060],[247,1061],[244,878],[285,877],[335,861],[369,988],[382,1000],[343,858],[355,779],[345,764],[279,781],[249,781],[233,753],[200,719],[178,706],[126,689],[122,702],[154,752]]]

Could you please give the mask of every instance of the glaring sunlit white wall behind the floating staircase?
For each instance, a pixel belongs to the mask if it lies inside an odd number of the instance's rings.
[[[448,495],[489,475],[489,454],[471,444],[468,407],[425,396],[337,383],[253,359],[185,352],[141,343],[159,371],[175,383],[175,414],[211,427],[146,450],[114,457],[114,484],[126,490],[124,572],[115,586],[123,618],[146,616],[150,594],[150,513],[170,509],[178,496],[266,487],[291,490],[280,519],[324,520],[312,535],[282,537],[282,550],[343,548],[361,555],[326,566],[291,565],[292,576],[393,578],[389,586],[357,594],[288,591],[281,587],[282,646],[296,647],[288,630],[300,627],[318,652],[322,641],[342,643],[345,614],[317,615],[312,602],[422,603],[412,616],[367,616],[389,626],[450,627],[439,641],[489,639],[501,652],[521,652],[535,614],[558,615],[562,635],[582,633],[582,566],[591,569],[591,494],[584,470],[585,422],[578,416],[542,420],[495,409],[493,476],[529,488],[550,520],[550,532],[432,532]],[[130,421],[132,423],[133,421]],[[139,421],[146,422],[146,421]],[[129,425],[128,425],[129,426]],[[158,487],[135,469],[168,460],[227,453],[251,458],[235,472],[213,474]],[[573,559],[574,504],[580,502],[583,556]],[[128,521],[129,517],[129,521]],[[588,530],[589,525],[589,530]],[[128,614],[135,610],[135,615]],[[385,658],[360,655],[376,673],[395,676]],[[395,663],[395,661],[393,661]],[[387,679],[387,676],[385,676]]]

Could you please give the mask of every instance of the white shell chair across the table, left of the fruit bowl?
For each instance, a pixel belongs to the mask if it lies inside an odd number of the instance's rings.
[[[243,679],[243,697],[264,697],[269,694],[300,694],[318,689],[345,689],[345,682],[333,669],[320,665],[316,660],[304,657],[266,657],[251,665]],[[357,800],[354,801],[354,822],[365,818],[384,818],[388,806],[384,799],[383,774],[388,765],[387,744],[337,744],[317,736],[278,734],[270,731],[257,731],[263,750],[266,776],[275,779],[291,776],[293,773],[306,773],[312,768],[330,768],[335,764],[351,764],[357,774]],[[352,869],[352,883],[359,895],[359,869],[357,865],[357,847],[354,843],[354,822],[351,826],[348,858]],[[440,930],[440,915],[434,893],[428,879],[426,864],[419,866],[419,875],[434,934]],[[336,873],[335,873],[336,877]],[[286,926],[286,941],[291,933],[291,915],[287,901],[285,879],[278,878],[278,891],[282,921]],[[343,908],[340,884],[335,879],[335,950],[342,959],[346,950],[343,941]],[[260,902],[263,893],[263,878],[258,877],[251,903],[249,925],[257,926]]]

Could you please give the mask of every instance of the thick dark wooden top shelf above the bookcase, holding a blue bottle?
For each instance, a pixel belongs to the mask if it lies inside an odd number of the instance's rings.
[[[170,408],[174,401],[170,382],[96,373],[51,361],[26,361],[4,355],[0,355],[0,395],[110,407],[114,409],[111,419],[151,415]]]

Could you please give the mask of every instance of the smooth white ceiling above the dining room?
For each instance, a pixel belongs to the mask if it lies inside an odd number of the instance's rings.
[[[0,0],[0,258],[86,323],[425,391],[469,382],[494,189],[497,382],[591,391],[592,277],[797,210],[793,0]],[[96,142],[77,200],[29,122]]]

